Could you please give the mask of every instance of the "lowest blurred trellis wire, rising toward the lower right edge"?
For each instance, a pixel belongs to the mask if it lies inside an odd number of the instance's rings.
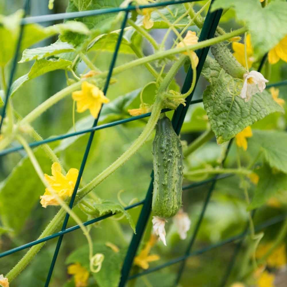
[[[286,219],[286,217],[287,217],[287,214],[279,215],[279,216],[275,216],[273,218],[270,218],[269,220],[266,220],[265,222],[263,222],[263,223],[259,224],[258,226],[256,226],[255,230],[256,231],[260,231],[260,230],[262,230],[264,228],[267,228],[269,226],[272,226],[272,225],[274,225],[274,224],[276,224],[278,222],[282,222],[283,220]],[[158,270],[163,269],[165,267],[168,267],[168,266],[171,266],[173,264],[179,263],[179,262],[181,262],[183,260],[186,260],[189,257],[197,256],[197,255],[200,255],[200,254],[205,253],[207,251],[210,251],[210,250],[212,250],[214,248],[218,248],[218,247],[221,247],[221,246],[226,245],[228,243],[232,243],[232,242],[234,242],[236,240],[243,239],[247,234],[249,234],[249,232],[247,232],[246,234],[244,232],[242,232],[241,234],[238,234],[236,236],[232,236],[232,237],[230,237],[228,239],[225,239],[223,241],[220,241],[218,243],[215,243],[215,244],[212,244],[212,245],[208,245],[208,246],[203,247],[201,249],[195,250],[195,251],[193,251],[193,252],[191,252],[191,253],[189,253],[187,255],[177,257],[177,258],[172,259],[172,260],[170,260],[170,261],[168,261],[168,262],[166,262],[166,263],[164,263],[162,265],[158,265],[158,266],[156,266],[154,268],[147,269],[147,270],[145,270],[145,271],[143,271],[141,273],[134,274],[134,275],[129,277],[129,280],[137,278],[137,277],[140,277],[140,276],[144,276],[144,275],[150,274],[152,272],[158,271]]]

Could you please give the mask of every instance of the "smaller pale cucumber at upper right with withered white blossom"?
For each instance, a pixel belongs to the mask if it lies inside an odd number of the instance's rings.
[[[230,76],[242,79],[243,75],[247,73],[223,42],[212,45],[210,49],[216,61]]]

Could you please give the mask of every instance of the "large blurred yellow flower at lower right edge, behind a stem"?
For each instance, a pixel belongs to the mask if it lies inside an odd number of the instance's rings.
[[[261,258],[263,257],[266,252],[272,247],[272,243],[265,243],[259,245],[256,250],[256,257]],[[276,267],[280,268],[286,265],[286,245],[282,244],[277,247],[272,254],[270,254],[267,258],[267,265],[269,267]]]

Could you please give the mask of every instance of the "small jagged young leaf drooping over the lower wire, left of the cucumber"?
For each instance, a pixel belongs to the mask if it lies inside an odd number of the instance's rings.
[[[100,202],[94,202],[89,199],[86,200],[90,203],[91,206],[93,206],[93,209],[90,209],[87,206],[83,205],[84,210],[86,210],[88,214],[98,217],[106,215],[110,212],[112,214],[123,213],[123,215],[129,221],[133,232],[135,232],[135,224],[133,222],[133,219],[131,218],[131,215],[126,210],[124,210],[124,208],[119,203],[104,199],[101,199]]]

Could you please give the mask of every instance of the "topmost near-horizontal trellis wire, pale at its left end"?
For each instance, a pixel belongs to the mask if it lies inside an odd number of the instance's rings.
[[[196,2],[200,0],[178,0],[178,1],[164,1],[158,3],[150,3],[146,5],[138,5],[138,6],[128,6],[128,7],[115,7],[115,8],[106,8],[106,9],[97,9],[97,10],[88,10],[88,11],[79,11],[79,12],[70,12],[70,13],[58,13],[53,15],[41,15],[41,16],[34,16],[28,17],[22,20],[22,24],[32,24],[32,23],[43,23],[43,22],[50,22],[50,21],[57,21],[57,20],[67,20],[67,19],[74,19],[74,18],[82,18],[86,16],[97,16],[103,15],[108,13],[118,13],[121,11],[133,11],[137,9],[144,9],[144,8],[152,8],[152,7],[161,7],[167,6],[172,4],[181,4],[187,2]]]

